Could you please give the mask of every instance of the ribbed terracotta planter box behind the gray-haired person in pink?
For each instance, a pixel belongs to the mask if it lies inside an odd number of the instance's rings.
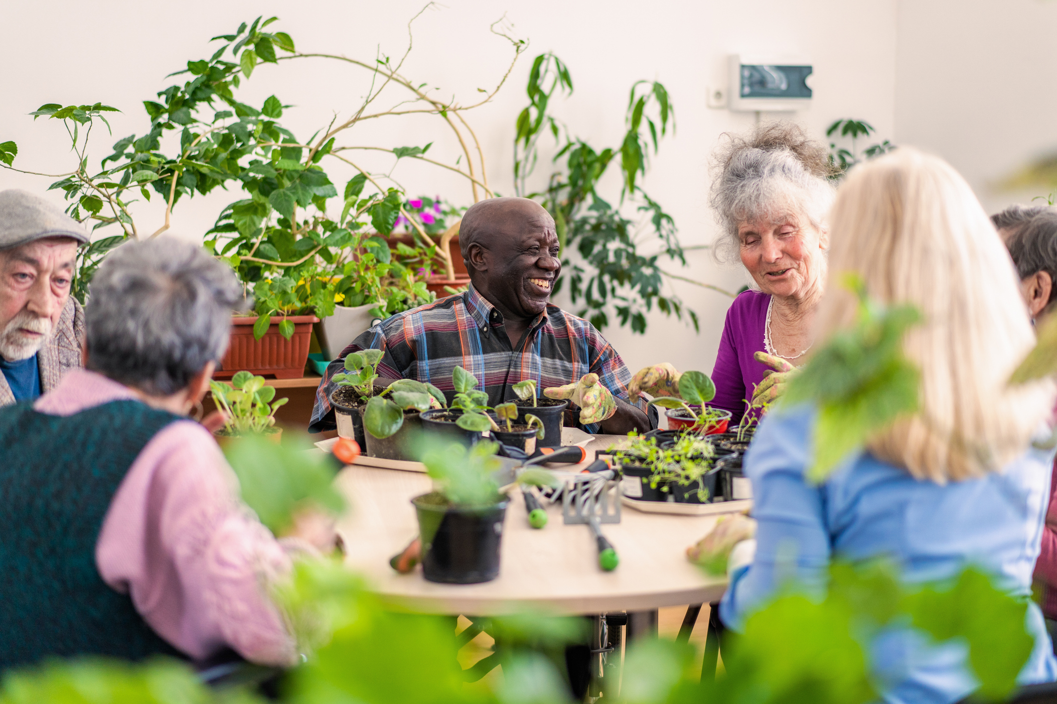
[[[290,340],[279,335],[279,322],[289,320],[294,324],[294,335]],[[231,341],[220,366],[214,373],[215,379],[230,379],[236,372],[245,369],[262,377],[276,379],[299,379],[304,376],[304,363],[309,359],[309,343],[312,340],[312,324],[318,323],[315,316],[272,317],[267,332],[260,340],[254,339],[256,318],[231,318]]]

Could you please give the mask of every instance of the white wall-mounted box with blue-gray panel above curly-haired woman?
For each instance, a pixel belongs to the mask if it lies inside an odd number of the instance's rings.
[[[761,60],[735,54],[729,59],[729,72],[727,106],[730,110],[771,112],[811,107],[810,63]]]

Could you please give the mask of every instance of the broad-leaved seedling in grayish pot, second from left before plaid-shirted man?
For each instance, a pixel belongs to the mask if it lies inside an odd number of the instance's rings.
[[[422,423],[419,415],[442,407],[444,394],[432,384],[397,379],[360,406],[367,456],[412,460]]]

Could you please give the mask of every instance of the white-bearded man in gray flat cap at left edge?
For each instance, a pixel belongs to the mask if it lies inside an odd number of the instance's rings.
[[[0,191],[0,406],[32,401],[80,366],[85,313],[70,286],[88,241],[44,198]]]

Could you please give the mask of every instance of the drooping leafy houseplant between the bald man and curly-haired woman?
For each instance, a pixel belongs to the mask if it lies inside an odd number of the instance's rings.
[[[685,281],[730,296],[711,284],[666,270],[668,265],[686,266],[675,222],[660,203],[639,185],[649,155],[656,153],[660,139],[674,130],[674,109],[668,91],[659,81],[636,81],[631,87],[625,115],[626,132],[619,146],[596,149],[574,137],[550,111],[556,93],[573,92],[568,66],[554,54],[541,54],[528,76],[530,103],[518,115],[514,140],[514,182],[518,195],[540,199],[554,216],[562,247],[563,271],[555,292],[569,286],[577,315],[598,328],[610,324],[615,313],[620,325],[633,332],[646,331],[646,313],[655,305],[666,316],[687,316],[694,330],[698,316],[682,299],[667,292],[665,279]],[[528,177],[539,160],[540,137],[550,132],[558,142],[555,161],[564,168],[551,174],[546,186],[533,191]],[[620,205],[634,206],[648,224],[627,217],[619,206],[598,192],[598,184],[612,163],[619,164],[624,179],[616,194]],[[578,258],[570,256],[575,251]]]

